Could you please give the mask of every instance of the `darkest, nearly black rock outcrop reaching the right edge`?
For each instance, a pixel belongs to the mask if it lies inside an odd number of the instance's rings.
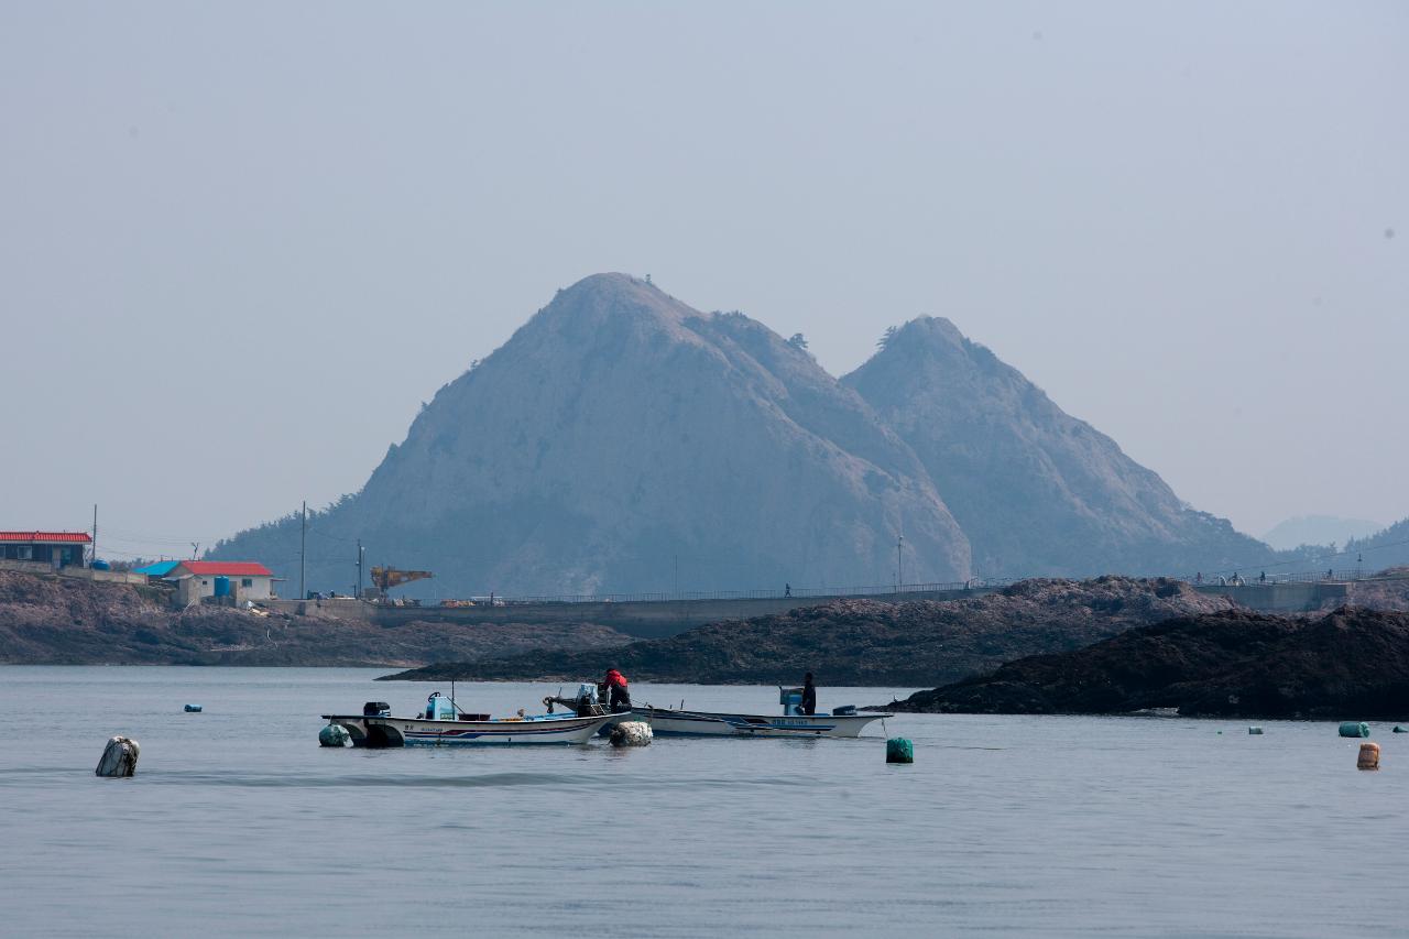
[[[1409,716],[1409,613],[1182,616],[921,691],[896,711],[1220,718]]]

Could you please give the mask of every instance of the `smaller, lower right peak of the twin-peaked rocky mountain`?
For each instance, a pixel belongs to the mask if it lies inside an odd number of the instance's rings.
[[[1182,574],[1271,557],[945,319],[895,330],[843,383],[914,450],[981,575]]]

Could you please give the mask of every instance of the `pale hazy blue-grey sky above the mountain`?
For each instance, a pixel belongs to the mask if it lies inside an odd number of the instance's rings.
[[[952,319],[1186,501],[1409,516],[1409,4],[0,4],[0,529],[358,489],[557,288]],[[492,446],[492,444],[490,444]]]

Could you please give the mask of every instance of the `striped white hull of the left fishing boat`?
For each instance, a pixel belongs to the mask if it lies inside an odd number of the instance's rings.
[[[528,718],[524,720],[426,720],[323,715],[347,728],[355,747],[464,747],[586,743],[612,715],[592,718]]]

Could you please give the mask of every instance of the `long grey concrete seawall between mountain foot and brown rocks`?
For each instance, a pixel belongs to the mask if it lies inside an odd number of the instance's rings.
[[[1316,609],[1327,601],[1350,602],[1353,585],[1346,582],[1308,584],[1244,584],[1195,587],[1200,594],[1227,596],[1234,603],[1265,613],[1295,613]],[[676,601],[617,601],[617,602],[542,602],[506,603],[503,606],[380,606],[355,599],[333,601],[275,601],[272,605],[290,613],[318,612],[365,619],[380,626],[403,626],[411,622],[464,623],[599,623],[628,636],[658,639],[675,636],[688,629],[726,619],[747,619],[785,613],[790,609],[820,606],[837,599],[917,601],[960,599],[982,596],[999,588],[971,588],[954,591],[916,591],[878,594],[869,596],[771,596],[752,599],[676,599]]]

